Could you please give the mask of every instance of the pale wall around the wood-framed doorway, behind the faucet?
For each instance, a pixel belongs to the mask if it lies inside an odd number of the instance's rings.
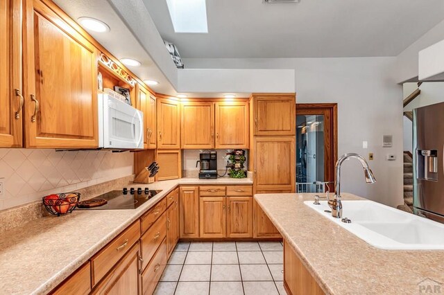
[[[376,184],[365,184],[359,163],[341,171],[342,189],[391,206],[402,204],[402,87],[393,79],[395,57],[187,59],[188,68],[294,69],[297,102],[337,102],[339,155],[375,154],[370,167]],[[382,136],[393,135],[393,147],[382,147]],[[368,141],[368,149],[362,148]],[[396,161],[386,161],[395,154]]]

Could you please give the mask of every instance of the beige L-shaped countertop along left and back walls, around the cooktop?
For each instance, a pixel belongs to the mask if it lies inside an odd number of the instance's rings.
[[[131,184],[162,190],[137,209],[74,210],[0,233],[0,294],[46,294],[178,185],[253,184],[251,179],[192,179]]]

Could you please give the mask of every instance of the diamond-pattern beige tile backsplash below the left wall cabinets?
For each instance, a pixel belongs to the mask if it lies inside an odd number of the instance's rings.
[[[0,210],[133,174],[133,153],[0,149]]]

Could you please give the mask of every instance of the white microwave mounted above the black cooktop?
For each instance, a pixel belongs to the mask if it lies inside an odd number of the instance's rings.
[[[99,147],[144,148],[144,114],[121,100],[99,93]]]

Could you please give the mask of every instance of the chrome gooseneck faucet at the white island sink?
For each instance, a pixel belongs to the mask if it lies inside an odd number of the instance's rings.
[[[376,182],[375,176],[373,175],[372,170],[368,167],[368,163],[364,157],[360,154],[349,153],[343,154],[341,158],[336,161],[336,194],[333,199],[328,197],[327,193],[327,202],[328,206],[332,208],[332,216],[336,218],[342,217],[342,202],[341,202],[341,164],[348,158],[355,158],[361,162],[362,167],[364,167],[364,176],[366,177],[367,184],[374,184]]]

